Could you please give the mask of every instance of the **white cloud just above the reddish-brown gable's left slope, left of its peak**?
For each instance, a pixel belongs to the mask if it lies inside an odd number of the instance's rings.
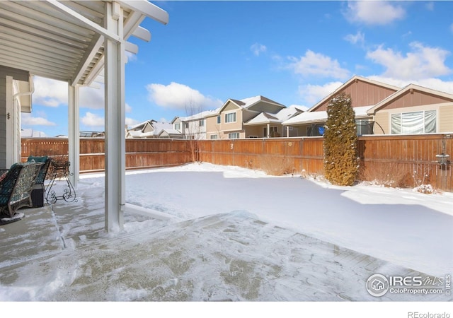
[[[291,61],[287,68],[303,76],[319,76],[325,78],[345,79],[350,76],[347,69],[343,69],[338,61],[321,53],[306,51],[304,57],[289,57]]]

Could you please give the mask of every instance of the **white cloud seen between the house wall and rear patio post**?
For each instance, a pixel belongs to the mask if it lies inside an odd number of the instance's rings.
[[[68,83],[39,76],[33,78],[33,83],[33,104],[47,107],[68,105]]]

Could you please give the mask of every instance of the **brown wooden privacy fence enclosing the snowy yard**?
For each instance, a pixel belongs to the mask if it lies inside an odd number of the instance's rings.
[[[199,158],[217,165],[323,174],[322,137],[196,141],[196,156],[192,153],[193,143],[178,139],[127,139],[126,167],[182,165]],[[67,139],[22,139],[23,160],[28,155],[67,155],[67,151]],[[440,165],[436,155],[441,153],[453,155],[451,134],[360,136],[360,178],[381,179],[397,187],[431,184],[436,189],[452,192],[452,165]],[[81,139],[81,172],[103,169],[104,139]]]

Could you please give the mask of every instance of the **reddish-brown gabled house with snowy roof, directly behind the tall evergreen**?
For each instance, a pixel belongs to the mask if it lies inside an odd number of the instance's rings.
[[[357,134],[373,134],[374,117],[368,111],[398,90],[400,88],[396,86],[354,76],[306,112],[283,122],[283,125],[297,129],[299,136],[321,136],[327,120],[328,103],[334,95],[344,92],[351,96]]]

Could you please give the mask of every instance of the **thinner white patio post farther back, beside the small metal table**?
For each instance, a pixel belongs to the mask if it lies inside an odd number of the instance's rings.
[[[68,85],[68,146],[69,181],[74,187],[79,184],[80,174],[80,133],[79,133],[79,86]]]

